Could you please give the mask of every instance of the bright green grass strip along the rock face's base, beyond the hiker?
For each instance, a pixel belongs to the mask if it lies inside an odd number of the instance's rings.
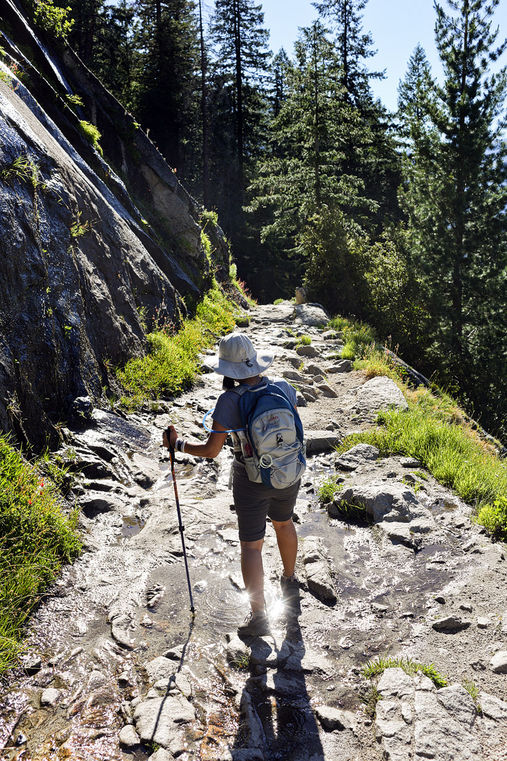
[[[175,396],[189,388],[200,369],[198,355],[217,336],[234,330],[238,314],[214,285],[198,304],[195,318],[185,320],[177,333],[171,326],[149,333],[147,355],[129,360],[116,371],[126,391],[122,405],[134,409],[147,399]]]

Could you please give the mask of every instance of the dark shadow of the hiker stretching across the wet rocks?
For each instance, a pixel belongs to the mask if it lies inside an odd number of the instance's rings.
[[[299,591],[298,591],[299,593]],[[234,756],[253,761],[324,761],[318,724],[303,673],[306,648],[299,626],[297,599],[286,600],[284,638],[255,638],[250,677],[242,690],[241,721]],[[274,665],[276,664],[276,665]],[[255,751],[258,751],[256,756]]]

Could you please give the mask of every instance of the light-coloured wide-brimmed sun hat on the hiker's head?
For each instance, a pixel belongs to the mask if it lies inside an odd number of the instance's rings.
[[[274,352],[256,352],[244,333],[230,333],[220,341],[218,354],[207,357],[204,365],[220,375],[240,380],[264,372],[273,361]]]

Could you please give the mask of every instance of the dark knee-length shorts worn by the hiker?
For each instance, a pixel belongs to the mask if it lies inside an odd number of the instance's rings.
[[[299,481],[287,489],[271,489],[254,483],[245,468],[234,466],[233,498],[238,516],[239,540],[256,542],[266,533],[266,517],[271,521],[290,521],[299,492]]]

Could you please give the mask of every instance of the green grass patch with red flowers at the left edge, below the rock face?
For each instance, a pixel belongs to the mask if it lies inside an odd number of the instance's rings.
[[[65,517],[59,491],[0,437],[0,673],[22,651],[23,627],[62,563],[81,549],[77,514]]]

